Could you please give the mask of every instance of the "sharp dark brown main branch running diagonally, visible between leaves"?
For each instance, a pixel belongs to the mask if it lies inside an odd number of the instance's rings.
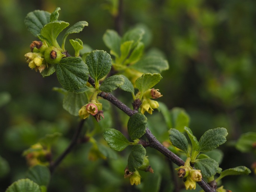
[[[88,82],[92,85],[95,85],[94,80],[89,77]],[[101,92],[98,94],[98,96],[103,97],[104,99],[110,101],[112,104],[117,106],[119,109],[121,109],[123,112],[125,112],[127,115],[132,116],[135,114],[136,110],[130,109],[128,106],[126,106],[124,103],[122,103],[120,100],[118,100],[115,96],[113,96],[110,93],[105,93]],[[157,149],[157,151],[160,151],[164,156],[166,156],[170,161],[174,162],[178,166],[184,165],[184,161],[179,158],[176,154],[174,154],[172,151],[167,149],[165,146],[163,146],[156,138],[155,136],[151,133],[151,131],[146,128],[146,133],[145,133],[146,138],[148,139],[147,145],[150,146],[151,148]],[[203,179],[201,182],[197,182],[198,185],[201,186],[201,188],[205,192],[216,192],[215,189],[211,188],[210,185],[208,185]]]

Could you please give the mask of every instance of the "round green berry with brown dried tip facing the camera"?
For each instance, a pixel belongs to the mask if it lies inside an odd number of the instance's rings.
[[[65,55],[61,53],[61,50],[54,46],[48,47],[44,51],[44,59],[49,64],[57,64],[63,57],[65,57]]]

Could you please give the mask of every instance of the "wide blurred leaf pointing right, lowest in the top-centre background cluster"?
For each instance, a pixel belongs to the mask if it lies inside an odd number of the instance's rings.
[[[129,67],[143,73],[161,73],[169,69],[169,64],[161,57],[146,56]]]

